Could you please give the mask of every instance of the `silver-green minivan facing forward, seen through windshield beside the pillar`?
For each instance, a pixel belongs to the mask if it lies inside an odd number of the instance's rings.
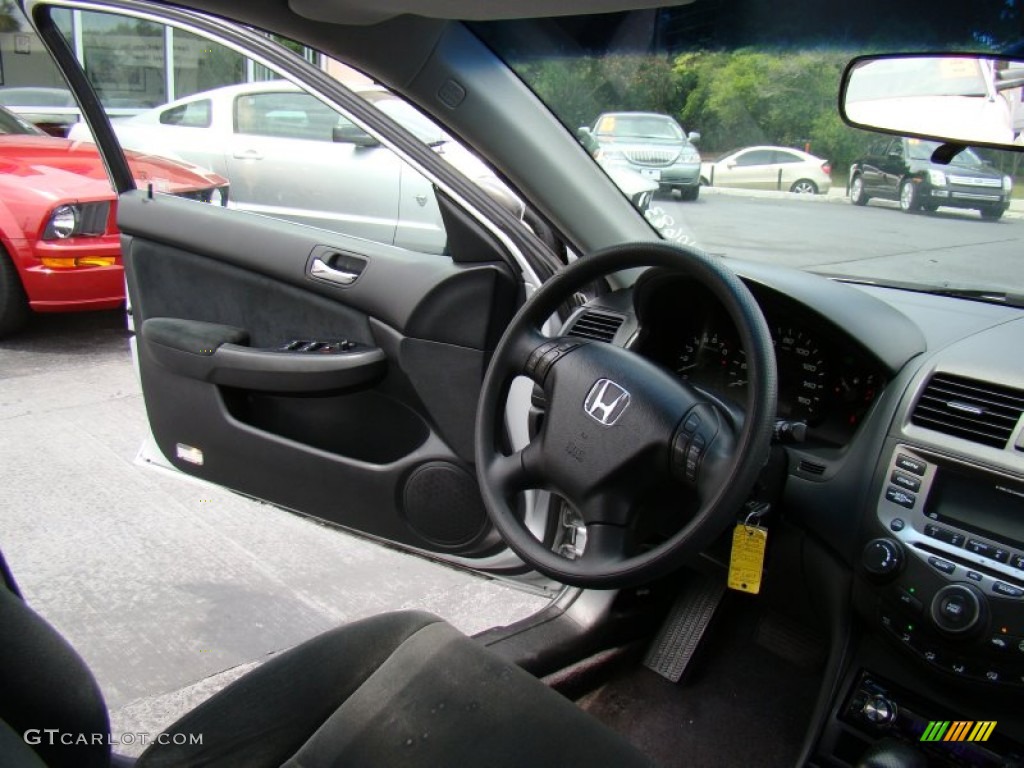
[[[580,133],[602,165],[629,168],[683,200],[700,194],[700,154],[693,145],[700,134],[684,133],[668,115],[604,113]]]

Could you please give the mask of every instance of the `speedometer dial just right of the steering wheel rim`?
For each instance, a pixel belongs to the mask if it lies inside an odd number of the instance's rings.
[[[825,357],[818,342],[800,329],[776,327],[773,335],[778,364],[778,415],[813,423],[823,415]]]

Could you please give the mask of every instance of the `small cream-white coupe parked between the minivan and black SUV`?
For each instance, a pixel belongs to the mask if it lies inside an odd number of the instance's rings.
[[[701,163],[700,183],[824,195],[831,188],[831,165],[787,146],[746,146]]]

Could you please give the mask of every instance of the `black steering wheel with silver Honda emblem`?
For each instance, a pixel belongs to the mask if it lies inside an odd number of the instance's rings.
[[[745,412],[725,410],[639,354],[586,339],[549,338],[545,322],[575,291],[622,269],[667,267],[707,287],[728,311],[746,353]],[[526,376],[545,393],[538,434],[501,449],[509,387]],[[519,309],[483,379],[476,469],[498,532],[526,563],[579,587],[650,581],[699,553],[735,519],[768,458],[777,376],[771,335],[746,287],[721,262],[668,243],[614,246],[573,262]],[[633,551],[644,492],[666,482],[695,494],[696,511],[657,546]],[[570,560],[539,541],[516,514],[527,489],[558,495],[583,517],[586,548]],[[682,505],[680,505],[682,507]]]

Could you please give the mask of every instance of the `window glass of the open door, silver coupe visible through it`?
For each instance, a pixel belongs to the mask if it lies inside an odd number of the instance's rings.
[[[108,115],[117,118],[112,124],[123,147],[222,176],[229,183],[228,208],[445,253],[431,182],[344,112],[190,31],[99,11],[61,11],[56,20]],[[443,135],[341,62],[271,39],[355,95],[366,94],[426,143]],[[453,156],[446,147],[444,155]]]

